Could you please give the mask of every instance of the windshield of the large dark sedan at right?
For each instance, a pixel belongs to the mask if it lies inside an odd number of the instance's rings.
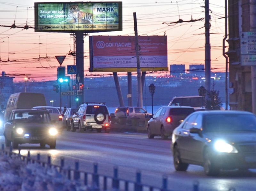
[[[205,132],[256,131],[256,117],[248,114],[206,115],[203,124]]]

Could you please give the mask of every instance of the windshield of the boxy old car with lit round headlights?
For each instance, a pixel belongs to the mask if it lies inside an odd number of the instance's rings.
[[[51,119],[47,113],[18,112],[14,114],[16,123],[50,123]]]

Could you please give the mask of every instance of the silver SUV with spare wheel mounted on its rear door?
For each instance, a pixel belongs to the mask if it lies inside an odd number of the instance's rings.
[[[109,133],[110,123],[111,118],[105,103],[85,102],[72,116],[71,131],[79,129],[79,132],[84,132],[86,129],[96,129],[97,132],[101,132],[103,129]]]

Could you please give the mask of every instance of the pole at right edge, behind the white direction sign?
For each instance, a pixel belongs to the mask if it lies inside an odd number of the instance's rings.
[[[250,31],[256,31],[256,0],[250,0]],[[251,66],[252,113],[256,114],[256,66]]]

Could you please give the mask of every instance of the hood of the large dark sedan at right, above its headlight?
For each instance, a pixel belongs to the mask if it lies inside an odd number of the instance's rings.
[[[205,133],[211,140],[223,139],[232,143],[256,142],[256,131]]]

